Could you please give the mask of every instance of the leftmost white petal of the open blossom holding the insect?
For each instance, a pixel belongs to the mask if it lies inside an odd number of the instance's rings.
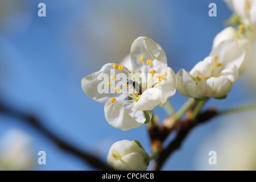
[[[90,98],[104,104],[113,97],[117,100],[124,100],[127,96],[125,94],[118,94],[114,92],[116,82],[110,80],[110,76],[122,73],[124,74],[123,77],[128,77],[127,72],[129,72],[127,68],[124,68],[121,72],[119,69],[113,68],[113,63],[105,64],[100,71],[82,78],[82,89]],[[107,85],[107,82],[109,81],[113,83],[113,86]],[[123,82],[125,84],[127,80],[123,80]]]

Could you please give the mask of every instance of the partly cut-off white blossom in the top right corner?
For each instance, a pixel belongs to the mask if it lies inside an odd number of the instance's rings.
[[[230,8],[240,16],[251,38],[256,38],[256,0],[225,0]]]

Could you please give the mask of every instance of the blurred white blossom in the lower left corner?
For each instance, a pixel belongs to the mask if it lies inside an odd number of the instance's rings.
[[[29,170],[35,166],[32,138],[18,129],[11,129],[0,141],[0,170]]]

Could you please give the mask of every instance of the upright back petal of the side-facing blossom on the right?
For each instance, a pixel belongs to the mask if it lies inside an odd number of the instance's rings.
[[[236,40],[224,40],[212,50],[210,56],[218,56],[218,63],[221,63],[224,68],[235,64],[240,69],[245,59],[245,51],[238,46]]]

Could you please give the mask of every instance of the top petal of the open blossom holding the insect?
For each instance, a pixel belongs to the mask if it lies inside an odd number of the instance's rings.
[[[148,73],[148,71],[155,69],[160,75],[166,72],[167,58],[163,48],[154,40],[139,37],[131,44],[131,64],[135,73]],[[143,56],[143,63],[140,59]],[[147,65],[147,60],[152,60],[152,65]]]

